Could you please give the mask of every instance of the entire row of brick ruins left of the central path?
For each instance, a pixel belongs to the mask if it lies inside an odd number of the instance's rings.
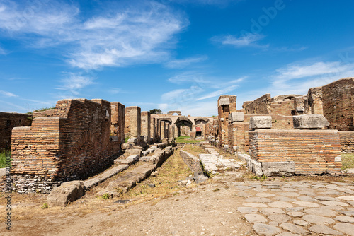
[[[141,155],[148,144],[170,137],[169,125],[140,107],[101,99],[59,100],[55,109],[33,114],[1,112],[0,121],[1,148],[11,141],[12,188],[19,193],[49,193],[62,182],[96,175],[123,152]]]

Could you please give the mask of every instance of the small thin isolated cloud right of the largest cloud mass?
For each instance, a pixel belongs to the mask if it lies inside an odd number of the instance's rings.
[[[259,45],[258,41],[263,40],[265,36],[261,34],[249,33],[239,37],[234,35],[215,36],[212,41],[221,42],[222,45],[232,45],[234,47],[268,47],[268,45]]]

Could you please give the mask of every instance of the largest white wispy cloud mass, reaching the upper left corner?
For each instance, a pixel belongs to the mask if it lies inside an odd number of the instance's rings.
[[[164,61],[176,42],[173,36],[188,25],[180,13],[154,1],[137,1],[134,7],[112,3],[108,7],[84,19],[77,6],[59,1],[31,8],[3,0],[0,30],[31,47],[67,45],[67,51],[59,53],[69,64],[98,69]]]

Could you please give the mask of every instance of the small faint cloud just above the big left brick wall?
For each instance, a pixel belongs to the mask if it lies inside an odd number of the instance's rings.
[[[57,87],[57,89],[68,90],[74,95],[79,95],[79,90],[93,84],[93,80],[94,78],[83,76],[82,73],[66,73],[65,78],[60,81],[63,85]]]

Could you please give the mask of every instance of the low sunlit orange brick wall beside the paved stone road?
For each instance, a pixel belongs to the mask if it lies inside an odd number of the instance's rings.
[[[341,174],[340,138],[336,130],[260,129],[249,131],[249,143],[253,160],[294,161],[296,174]]]

